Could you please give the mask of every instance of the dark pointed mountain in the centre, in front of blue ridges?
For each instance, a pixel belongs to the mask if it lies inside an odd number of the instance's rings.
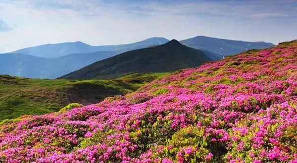
[[[111,79],[131,73],[170,72],[212,61],[201,50],[176,40],[95,62],[60,79]]]

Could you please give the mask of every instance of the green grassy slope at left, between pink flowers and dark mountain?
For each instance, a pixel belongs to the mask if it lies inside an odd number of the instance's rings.
[[[169,73],[132,74],[115,80],[41,80],[0,76],[0,120],[58,111],[68,103],[84,105],[123,95]]]

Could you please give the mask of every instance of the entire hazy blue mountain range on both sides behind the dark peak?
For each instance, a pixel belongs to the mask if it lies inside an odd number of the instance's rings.
[[[153,47],[168,41],[165,38],[155,37],[119,45],[91,46],[77,41],[28,47],[0,54],[0,74],[55,79],[120,53]],[[234,55],[247,49],[273,46],[272,43],[266,42],[232,41],[204,36],[180,42],[186,46],[200,49],[211,60],[219,60],[225,55]]]

